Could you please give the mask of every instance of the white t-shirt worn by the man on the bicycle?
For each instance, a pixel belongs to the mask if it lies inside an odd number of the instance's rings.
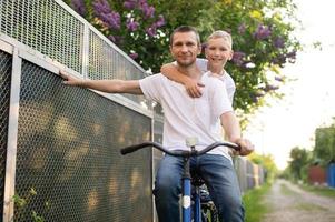
[[[139,80],[145,97],[159,102],[164,110],[165,122],[162,144],[170,150],[189,150],[187,138],[198,138],[197,150],[216,141],[221,141],[219,117],[233,111],[225,84],[217,78],[205,73],[203,97],[190,98],[183,84],[162,74],[154,74]],[[225,147],[211,150],[211,154],[223,154],[230,159]]]

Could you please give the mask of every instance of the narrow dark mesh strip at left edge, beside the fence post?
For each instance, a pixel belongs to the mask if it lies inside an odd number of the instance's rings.
[[[0,215],[3,214],[11,63],[11,56],[0,51]]]

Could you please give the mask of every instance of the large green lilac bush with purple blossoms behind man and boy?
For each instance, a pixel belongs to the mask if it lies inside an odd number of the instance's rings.
[[[99,9],[97,2],[106,6],[105,9]],[[125,2],[136,7],[129,9]],[[67,0],[67,3],[126,53],[137,56],[132,58],[152,72],[159,72],[160,65],[171,60],[168,38],[175,28],[194,26],[201,39],[214,30],[229,31],[235,53],[227,71],[236,82],[234,105],[244,120],[266,104],[266,95],[283,97],[277,89],[289,77],[284,77],[280,69],[295,62],[296,52],[302,49],[293,36],[299,22],[292,0]],[[155,13],[144,16],[144,6],[155,7]],[[164,24],[155,27],[161,18]],[[130,30],[129,20],[138,22],[138,28]],[[148,32],[152,26],[155,33]]]

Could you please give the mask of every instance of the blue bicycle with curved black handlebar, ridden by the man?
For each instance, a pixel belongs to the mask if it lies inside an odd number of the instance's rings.
[[[135,144],[135,145],[129,145],[126,148],[122,148],[120,150],[121,154],[128,154],[131,152],[135,152],[137,150],[140,150],[142,148],[147,148],[147,147],[154,147],[169,155],[174,155],[174,157],[181,157],[184,159],[184,173],[183,173],[183,179],[181,179],[181,191],[183,191],[183,196],[181,196],[181,206],[183,206],[183,222],[190,222],[191,221],[191,206],[194,209],[194,220],[193,222],[201,222],[201,218],[203,220],[207,220],[208,218],[207,215],[207,211],[209,210],[209,212],[211,213],[210,215],[210,222],[214,222],[214,220],[217,218],[217,215],[215,216],[215,210],[213,209],[214,204],[213,202],[210,204],[208,204],[208,208],[206,208],[206,204],[203,202],[201,204],[201,200],[200,200],[200,184],[199,182],[194,182],[195,185],[195,193],[193,196],[193,201],[194,204],[191,204],[191,176],[190,176],[190,170],[189,170],[189,158],[191,157],[198,157],[198,155],[203,155],[205,153],[207,153],[208,151],[217,148],[217,147],[228,147],[231,149],[235,149],[237,151],[240,150],[240,148],[237,144],[230,143],[230,142],[215,142],[208,147],[206,147],[205,149],[197,151],[195,149],[195,145],[197,144],[197,140],[196,139],[189,139],[186,140],[186,144],[187,147],[190,148],[189,151],[185,151],[185,150],[167,150],[166,148],[164,148],[161,144],[156,143],[156,142],[144,142],[144,143],[139,143],[139,144]],[[196,181],[196,180],[195,180]],[[209,194],[207,194],[209,195]],[[203,208],[201,208],[203,206]],[[203,215],[201,215],[203,214]],[[218,221],[218,220],[217,220]],[[205,221],[203,221],[205,222]]]

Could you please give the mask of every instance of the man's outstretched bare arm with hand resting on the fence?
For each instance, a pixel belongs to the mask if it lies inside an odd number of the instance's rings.
[[[65,79],[63,83],[67,85],[89,88],[108,93],[142,94],[137,80],[82,80],[73,78],[65,71],[60,71],[59,75]]]

